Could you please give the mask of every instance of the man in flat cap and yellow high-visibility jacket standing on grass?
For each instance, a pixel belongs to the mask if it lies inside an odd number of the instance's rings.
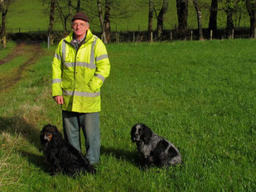
[[[60,41],[52,62],[52,96],[62,108],[65,138],[81,151],[81,127],[93,165],[99,162],[100,87],[109,76],[109,57],[85,13],[77,12],[71,21],[72,32]]]

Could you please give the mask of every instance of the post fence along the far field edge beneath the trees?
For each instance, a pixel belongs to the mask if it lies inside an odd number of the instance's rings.
[[[92,29],[93,30],[93,29]],[[101,32],[93,31],[96,36],[101,36]],[[16,40],[38,40],[47,41],[47,29],[46,28],[8,28],[7,37]],[[66,34],[63,31],[54,31],[56,41],[60,41]],[[249,28],[239,28],[232,31],[231,35],[228,35],[225,29],[218,29],[209,31],[208,29],[203,30],[204,39],[234,39],[234,38],[250,38]],[[254,32],[254,38],[256,38],[256,30]],[[180,33],[176,30],[164,30],[162,32],[161,40],[157,39],[157,31],[152,31],[150,35],[147,31],[112,31],[111,42],[138,42],[138,41],[174,41],[174,40],[198,40],[198,30],[187,30],[186,32]]]

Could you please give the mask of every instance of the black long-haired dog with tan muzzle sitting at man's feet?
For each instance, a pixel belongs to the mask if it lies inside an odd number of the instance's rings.
[[[52,174],[60,172],[75,176],[80,172],[95,173],[94,166],[89,160],[77,151],[74,146],[62,138],[57,127],[48,124],[41,130],[41,145],[44,147],[44,154],[52,166]]]

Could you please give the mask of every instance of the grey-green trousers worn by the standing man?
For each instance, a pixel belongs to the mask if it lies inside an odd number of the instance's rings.
[[[90,164],[99,162],[100,132],[99,113],[62,111],[64,137],[81,151],[80,128],[85,137],[86,157]]]

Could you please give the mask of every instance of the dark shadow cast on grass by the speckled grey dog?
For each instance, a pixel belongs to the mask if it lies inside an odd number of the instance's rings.
[[[134,166],[138,166],[139,168],[144,169],[144,161],[142,161],[138,151],[124,151],[114,147],[100,146],[100,153],[107,156],[114,156],[118,160],[129,161]]]

